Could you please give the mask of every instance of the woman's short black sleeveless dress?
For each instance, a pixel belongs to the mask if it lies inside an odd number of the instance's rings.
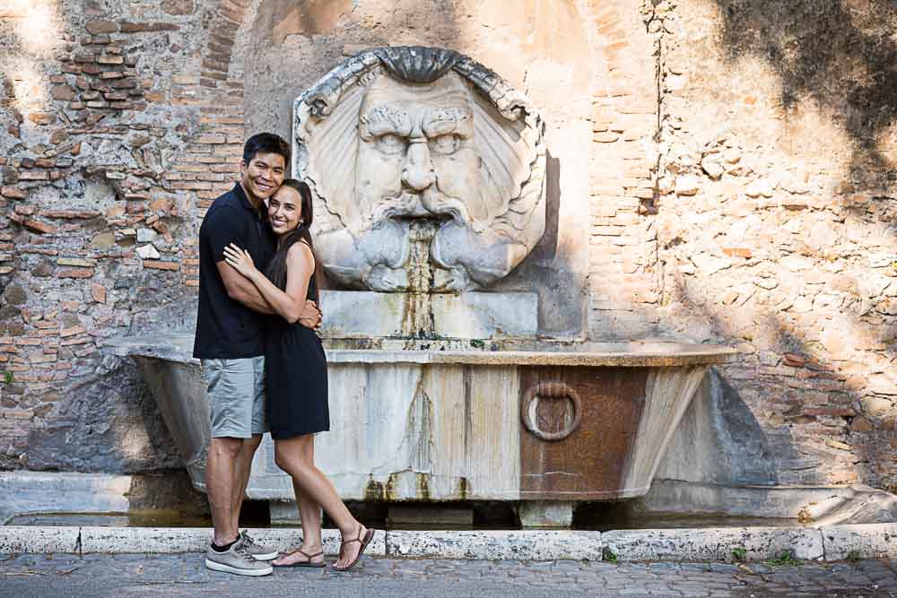
[[[315,277],[306,299],[315,298]],[[271,438],[284,440],[330,430],[327,356],[318,334],[273,316],[265,336],[265,384]]]

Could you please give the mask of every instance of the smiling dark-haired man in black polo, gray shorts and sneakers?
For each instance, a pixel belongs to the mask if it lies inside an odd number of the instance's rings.
[[[239,531],[239,509],[252,456],[268,430],[265,409],[264,314],[274,310],[248,279],[224,261],[230,243],[248,250],[259,269],[274,256],[266,228],[266,200],[283,182],[290,146],[278,135],[256,134],[243,147],[240,180],[218,197],[199,229],[199,310],[193,355],[208,384],[212,440],[205,484],[214,538],[205,566],[237,575],[272,572],[276,550]],[[311,301],[300,323],[314,328],[320,313]]]

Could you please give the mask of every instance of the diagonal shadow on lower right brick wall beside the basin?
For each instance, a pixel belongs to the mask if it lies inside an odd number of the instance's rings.
[[[692,317],[710,324],[709,339],[697,341],[740,341],[706,302],[696,300],[682,286],[677,285],[676,292]],[[769,356],[742,360],[733,371],[724,369],[723,375],[738,379],[739,387],[756,395],[757,403],[749,403],[754,411],[764,409],[763,433],[779,483],[831,483],[834,475],[840,481],[853,477],[847,481],[893,490],[893,475],[887,467],[892,456],[882,451],[887,438],[897,440],[890,401],[871,393],[865,377],[850,377],[836,361],[819,356],[811,342],[789,332],[780,316],[766,313],[759,325],[773,335],[764,342]],[[893,359],[893,351],[885,353]],[[729,386],[727,393],[737,391]],[[803,438],[799,445],[796,429]]]

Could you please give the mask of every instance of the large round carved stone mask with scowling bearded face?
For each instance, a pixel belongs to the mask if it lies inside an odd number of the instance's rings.
[[[542,237],[542,117],[466,56],[372,48],[305,91],[293,116],[318,256],[346,286],[483,288]]]

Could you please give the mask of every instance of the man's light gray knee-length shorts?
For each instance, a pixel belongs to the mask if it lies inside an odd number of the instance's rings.
[[[268,431],[265,358],[202,360],[212,438],[249,438]]]

